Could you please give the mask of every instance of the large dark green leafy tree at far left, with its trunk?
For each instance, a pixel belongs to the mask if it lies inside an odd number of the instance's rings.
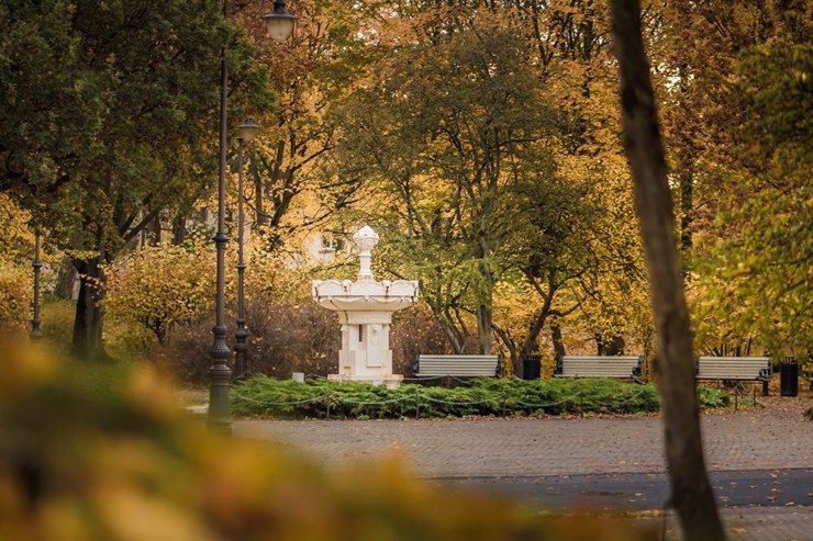
[[[100,264],[210,183],[221,45],[243,103],[265,71],[209,0],[7,2],[0,27],[0,185],[74,250],[74,347],[103,354]]]

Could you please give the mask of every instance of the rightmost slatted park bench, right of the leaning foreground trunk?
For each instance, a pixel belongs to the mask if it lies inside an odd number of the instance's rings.
[[[768,381],[773,375],[770,357],[700,357],[695,379],[715,381],[734,391],[734,408],[738,397],[747,393],[745,383],[751,383],[751,397],[756,399],[756,383],[762,383],[762,395],[768,395]]]

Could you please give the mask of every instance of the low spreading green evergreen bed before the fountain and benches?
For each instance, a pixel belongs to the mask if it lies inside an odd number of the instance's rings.
[[[232,413],[276,418],[431,418],[467,416],[546,416],[644,414],[660,410],[653,383],[615,380],[517,380],[476,377],[446,388],[402,384],[398,388],[366,383],[309,379],[304,383],[256,375],[232,390]],[[724,407],[724,390],[700,387],[701,407]]]

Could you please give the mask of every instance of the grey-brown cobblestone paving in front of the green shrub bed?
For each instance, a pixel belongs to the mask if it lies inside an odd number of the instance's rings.
[[[810,398],[765,399],[767,407],[701,419],[710,471],[813,465]],[[474,477],[664,472],[657,416],[464,420],[241,420],[236,435],[275,441],[321,463],[377,460],[396,453],[416,476]],[[734,540],[813,541],[810,501],[792,507],[721,508]],[[658,518],[658,520],[662,520]],[[666,516],[677,539],[677,521]]]

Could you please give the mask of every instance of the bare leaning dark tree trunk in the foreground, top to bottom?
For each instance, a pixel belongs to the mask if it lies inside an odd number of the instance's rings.
[[[635,182],[635,206],[658,331],[658,388],[672,504],[684,539],[725,540],[703,461],[692,339],[666,160],[641,34],[641,5],[638,0],[612,0],[611,5],[621,69],[624,142]]]

